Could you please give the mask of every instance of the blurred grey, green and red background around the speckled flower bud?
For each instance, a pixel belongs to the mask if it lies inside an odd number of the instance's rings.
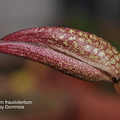
[[[43,26],[94,33],[120,51],[120,0],[0,0],[0,38]],[[24,110],[0,110],[2,120],[120,120],[120,96],[110,83],[85,82],[5,54],[0,54],[2,100],[33,102]]]

